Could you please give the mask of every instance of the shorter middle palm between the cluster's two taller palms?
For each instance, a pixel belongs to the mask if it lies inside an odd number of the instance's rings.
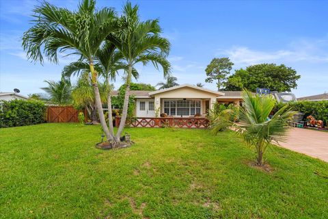
[[[111,123],[113,120],[111,115],[111,90],[113,86],[111,86],[110,82],[115,81],[118,70],[126,71],[128,70],[128,66],[122,62],[122,53],[120,53],[111,42],[106,41],[96,53],[94,68],[97,70],[98,76],[105,79],[105,86],[107,87],[107,107],[109,112],[109,133],[112,138],[114,138],[113,123]],[[87,60],[79,60],[78,62],[68,64],[64,67],[62,75],[64,77],[70,77],[71,75],[79,75],[81,71],[90,71]],[[132,75],[135,79],[139,77],[135,68],[132,70]],[[105,103],[105,99],[101,100],[102,103]]]

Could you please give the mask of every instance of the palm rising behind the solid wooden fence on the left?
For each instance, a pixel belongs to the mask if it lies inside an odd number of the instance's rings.
[[[71,86],[69,81],[66,79],[61,79],[60,81],[45,80],[44,82],[48,83],[48,86],[41,89],[48,94],[48,101],[58,105],[67,105],[72,103],[70,96]]]

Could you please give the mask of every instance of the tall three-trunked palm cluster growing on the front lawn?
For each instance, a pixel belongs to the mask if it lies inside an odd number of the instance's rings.
[[[95,0],[81,1],[74,12],[43,1],[33,12],[33,26],[23,35],[27,57],[43,63],[45,56],[50,62],[57,63],[59,53],[75,55],[77,62],[67,66],[64,74],[88,69],[102,130],[107,140],[120,142],[128,113],[131,77],[136,73],[135,64],[151,62],[157,69],[162,66],[164,75],[169,74],[170,64],[166,57],[170,44],[161,36],[159,20],[140,21],[138,6],[130,2],[124,5],[121,16],[117,16],[112,8],[96,10]],[[126,92],[120,127],[114,135],[113,126],[111,123],[107,126],[102,110],[98,77],[102,73],[107,82],[107,102],[111,112],[109,80],[115,79],[117,70],[122,68],[126,73]]]

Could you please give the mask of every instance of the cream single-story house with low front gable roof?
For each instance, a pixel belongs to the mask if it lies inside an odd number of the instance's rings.
[[[215,91],[190,84],[182,84],[163,90],[131,90],[135,96],[136,117],[156,117],[160,114],[168,116],[189,117],[206,115],[213,103],[233,103],[240,105],[241,91]],[[118,91],[113,90],[112,95]]]

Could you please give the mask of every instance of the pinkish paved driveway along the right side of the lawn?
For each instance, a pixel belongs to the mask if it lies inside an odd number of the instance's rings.
[[[280,146],[328,162],[328,132],[292,128],[287,142]]]

